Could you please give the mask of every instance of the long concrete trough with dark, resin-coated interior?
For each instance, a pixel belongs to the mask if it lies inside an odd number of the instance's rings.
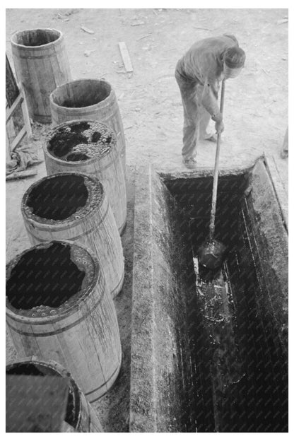
[[[137,170],[131,432],[288,430],[288,223],[267,164],[220,172],[214,273],[196,258],[213,170]]]

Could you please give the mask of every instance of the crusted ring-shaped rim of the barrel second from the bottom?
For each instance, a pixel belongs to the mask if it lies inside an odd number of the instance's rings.
[[[100,263],[98,261],[98,258],[95,256],[94,252],[85,245],[80,245],[77,242],[73,242],[71,240],[47,240],[46,242],[39,243],[37,245],[34,245],[33,247],[25,249],[23,252],[20,252],[19,254],[16,254],[13,259],[8,261],[6,264],[6,281],[11,275],[11,271],[16,266],[18,261],[23,257],[24,254],[30,252],[33,249],[42,249],[45,247],[48,247],[49,244],[52,243],[61,243],[64,245],[70,245],[71,247],[76,247],[79,249],[83,249],[83,251],[86,251],[88,255],[90,256],[91,260],[93,261],[93,268],[94,268],[94,274],[91,280],[88,283],[88,286],[86,288],[83,288],[79,290],[75,295],[77,295],[77,298],[75,302],[67,305],[66,307],[63,307],[61,311],[58,310],[58,308],[52,307],[52,310],[56,310],[56,314],[47,314],[44,317],[31,317],[27,315],[23,315],[20,312],[18,312],[17,308],[13,307],[10,302],[8,302],[8,299],[6,297],[6,315],[13,319],[13,321],[21,322],[23,324],[35,324],[35,325],[43,325],[47,324],[49,322],[59,322],[62,319],[65,319],[66,317],[69,317],[70,315],[73,315],[76,313],[83,302],[86,302],[90,295],[93,295],[95,292],[95,286],[97,285],[98,281],[102,277],[102,268],[100,266]],[[97,300],[99,303],[102,298],[103,293],[100,293],[100,298]],[[64,304],[62,304],[64,305]],[[31,310],[31,308],[30,308]],[[9,326],[9,325],[8,325]]]

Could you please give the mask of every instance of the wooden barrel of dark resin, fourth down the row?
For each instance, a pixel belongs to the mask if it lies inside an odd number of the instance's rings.
[[[124,283],[122,241],[105,190],[90,175],[63,172],[32,184],[21,212],[30,242],[73,240],[90,247],[105,274],[112,297]]]

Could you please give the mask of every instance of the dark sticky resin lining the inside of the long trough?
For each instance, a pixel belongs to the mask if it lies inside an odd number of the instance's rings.
[[[287,359],[264,291],[245,190],[248,175],[220,177],[217,240],[227,247],[222,268],[196,257],[208,235],[212,178],[165,181],[190,230],[196,278],[189,323],[199,432],[288,430]],[[278,293],[274,293],[278,295]]]

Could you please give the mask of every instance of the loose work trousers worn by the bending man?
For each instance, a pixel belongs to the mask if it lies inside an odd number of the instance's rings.
[[[203,86],[197,81],[184,78],[179,69],[175,71],[175,78],[180,88],[184,108],[182,156],[183,160],[187,161],[196,158],[199,138],[204,139],[208,135],[206,129],[211,114],[201,105]]]

